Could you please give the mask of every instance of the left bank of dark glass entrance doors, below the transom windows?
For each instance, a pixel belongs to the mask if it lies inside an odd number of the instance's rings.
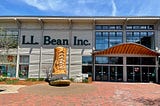
[[[96,81],[123,81],[122,66],[96,66]]]

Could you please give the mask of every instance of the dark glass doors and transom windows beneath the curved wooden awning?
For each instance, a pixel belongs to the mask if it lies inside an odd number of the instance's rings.
[[[126,67],[126,76],[124,75]],[[156,82],[156,57],[95,57],[96,81]]]

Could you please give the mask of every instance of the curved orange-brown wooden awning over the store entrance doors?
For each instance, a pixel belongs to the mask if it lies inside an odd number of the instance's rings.
[[[159,56],[160,54],[143,45],[137,43],[123,43],[106,50],[97,51],[93,55],[110,55],[110,54],[134,54],[134,55],[148,55]]]

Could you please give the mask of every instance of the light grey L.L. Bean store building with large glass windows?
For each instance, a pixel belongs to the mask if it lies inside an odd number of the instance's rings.
[[[45,78],[54,48],[67,48],[69,78],[88,74],[95,81],[160,82],[160,17],[1,16],[2,75]],[[4,41],[4,40],[1,40]]]

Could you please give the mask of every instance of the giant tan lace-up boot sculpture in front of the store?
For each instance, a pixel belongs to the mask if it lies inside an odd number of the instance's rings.
[[[67,80],[66,56],[67,49],[56,47],[54,50],[54,62],[52,68],[52,78],[49,81],[53,86],[69,86],[70,80]]]

